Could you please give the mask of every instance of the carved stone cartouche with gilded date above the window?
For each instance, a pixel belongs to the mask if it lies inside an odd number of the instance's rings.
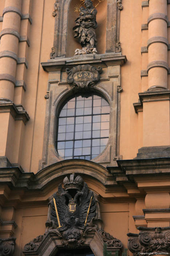
[[[102,67],[92,67],[91,65],[78,65],[74,68],[66,68],[67,82],[74,84],[78,88],[87,89],[99,81]]]

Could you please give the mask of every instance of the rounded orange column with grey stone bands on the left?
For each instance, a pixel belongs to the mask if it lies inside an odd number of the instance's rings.
[[[20,20],[21,0],[6,0],[0,34],[0,98],[5,101],[13,101]]]

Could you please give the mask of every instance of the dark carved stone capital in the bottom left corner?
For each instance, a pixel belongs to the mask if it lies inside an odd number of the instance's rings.
[[[13,256],[15,237],[0,239],[0,256]]]

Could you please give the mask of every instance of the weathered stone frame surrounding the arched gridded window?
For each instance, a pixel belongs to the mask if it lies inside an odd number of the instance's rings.
[[[105,80],[105,79],[103,79]],[[98,157],[91,159],[96,163],[100,163],[104,166],[108,163],[112,165],[117,165],[116,160],[122,159],[119,155],[119,128],[120,128],[120,74],[109,76],[108,79],[112,84],[111,93],[109,93],[106,88],[104,88],[104,81],[101,81],[91,90],[96,91],[104,97],[112,109],[110,113],[110,129],[114,129],[114,132],[110,132],[107,146]],[[115,81],[115,82],[114,82]],[[60,109],[60,106],[71,94],[74,94],[76,89],[68,86],[67,89],[61,91],[60,94],[56,94],[56,86],[62,84],[59,81],[50,80],[48,82],[47,91],[47,105],[46,105],[46,118],[45,118],[45,128],[44,128],[44,140],[43,140],[43,157],[39,161],[39,170],[59,161],[67,161],[60,157],[56,151],[55,147],[55,132],[56,132],[56,122],[55,113]],[[64,83],[65,84],[65,83]],[[69,88],[70,87],[70,88]]]

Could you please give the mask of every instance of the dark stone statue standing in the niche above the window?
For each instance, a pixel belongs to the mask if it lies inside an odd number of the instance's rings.
[[[74,38],[78,38],[82,49],[76,49],[75,55],[93,53],[96,54],[96,33],[97,27],[96,14],[97,10],[91,0],[84,1],[84,7],[80,7],[79,18],[75,20],[76,26],[73,27]]]

